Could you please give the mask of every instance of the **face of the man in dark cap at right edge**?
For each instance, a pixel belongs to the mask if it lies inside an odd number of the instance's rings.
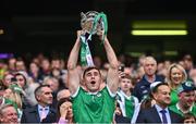
[[[194,90],[183,91],[179,95],[180,102],[184,108],[191,108],[194,104],[195,97]]]

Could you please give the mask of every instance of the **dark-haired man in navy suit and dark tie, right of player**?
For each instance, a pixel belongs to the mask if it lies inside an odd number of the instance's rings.
[[[179,114],[168,109],[171,102],[168,84],[158,83],[151,92],[156,104],[152,108],[140,110],[136,123],[183,123],[183,119]]]

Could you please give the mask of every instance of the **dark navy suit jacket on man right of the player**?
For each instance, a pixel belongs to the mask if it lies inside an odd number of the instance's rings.
[[[169,112],[171,123],[183,123],[181,115],[172,112],[171,110],[169,110]],[[157,112],[156,107],[140,110],[136,123],[161,123],[161,119]]]

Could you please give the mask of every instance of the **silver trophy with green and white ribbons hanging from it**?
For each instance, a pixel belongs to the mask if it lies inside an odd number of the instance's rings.
[[[96,11],[88,11],[87,13],[81,13],[81,27],[83,35],[81,36],[81,63],[82,66],[93,66],[94,62],[89,50],[88,41],[91,40],[93,35],[101,36],[103,41],[108,32],[108,22],[105,13],[98,13]]]

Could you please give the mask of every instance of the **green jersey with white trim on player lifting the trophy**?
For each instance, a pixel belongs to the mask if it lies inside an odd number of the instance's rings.
[[[115,109],[115,96],[108,87],[91,94],[78,88],[73,96],[75,123],[112,123]]]

